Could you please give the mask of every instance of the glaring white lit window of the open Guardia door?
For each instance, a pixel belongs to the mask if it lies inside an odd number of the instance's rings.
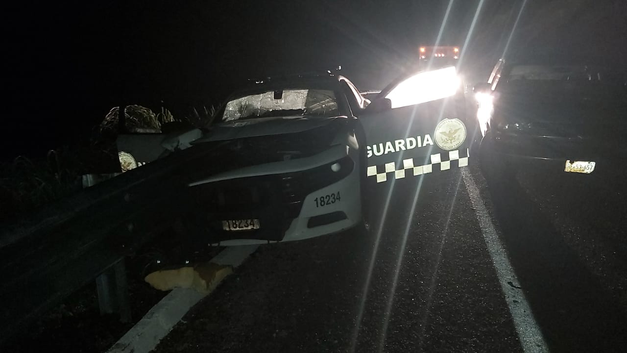
[[[386,98],[392,108],[413,106],[454,95],[460,87],[455,67],[419,72],[394,87]]]

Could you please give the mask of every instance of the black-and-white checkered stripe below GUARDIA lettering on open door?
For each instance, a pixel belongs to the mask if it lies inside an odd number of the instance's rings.
[[[399,166],[399,169],[396,169],[395,162],[386,163],[384,165],[373,165],[369,166],[367,173],[368,176],[376,176],[377,183],[382,183],[387,181],[387,175],[393,175],[396,179],[402,179],[405,176],[411,175],[423,175],[433,172],[433,170],[438,170],[438,165],[440,170],[450,170],[451,169],[451,161],[457,161],[457,165],[459,167],[468,165],[468,156],[470,151],[466,149],[465,155],[460,156],[460,151],[448,151],[448,160],[446,160],[447,153],[436,153],[435,155],[431,155],[431,163],[426,165],[415,165],[414,162],[418,162],[417,158],[409,158],[407,160],[403,160],[403,166]],[[444,155],[444,158],[443,157]],[[419,161],[418,163],[422,163],[423,161]],[[381,171],[381,172],[379,172]]]

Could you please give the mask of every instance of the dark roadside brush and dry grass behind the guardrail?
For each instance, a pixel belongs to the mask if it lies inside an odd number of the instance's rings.
[[[96,129],[90,142],[79,146],[61,146],[43,158],[18,156],[0,161],[0,223],[31,212],[38,207],[80,191],[82,175],[120,171],[115,139],[118,133],[119,107],[113,107]],[[147,107],[132,105],[125,109],[127,129],[136,133],[159,133],[169,122],[206,126],[214,107],[192,108],[182,119],[161,107],[156,113]]]

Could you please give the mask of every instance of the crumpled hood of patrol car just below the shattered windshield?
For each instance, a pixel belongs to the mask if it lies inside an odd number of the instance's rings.
[[[194,144],[255,136],[300,133],[332,124],[337,119],[345,119],[345,117],[281,116],[226,121],[211,126],[208,133],[194,141]]]

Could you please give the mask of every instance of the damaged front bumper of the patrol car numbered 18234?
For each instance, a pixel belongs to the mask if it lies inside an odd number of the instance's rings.
[[[190,187],[194,237],[219,246],[295,241],[349,229],[361,221],[359,163],[345,146],[312,158],[240,170]],[[331,166],[340,166],[332,170]],[[256,170],[256,171],[255,171]],[[278,172],[277,172],[278,171]],[[254,175],[254,174],[257,175]],[[339,195],[322,205],[320,198]],[[316,200],[318,199],[318,200]],[[258,219],[259,229],[226,231],[223,220]]]

